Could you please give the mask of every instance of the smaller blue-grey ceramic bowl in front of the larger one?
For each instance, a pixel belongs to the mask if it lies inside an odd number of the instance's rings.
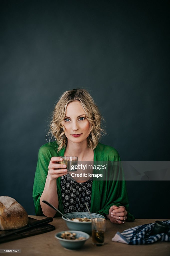
[[[70,232],[70,233],[76,233],[76,238],[85,237],[85,239],[83,239],[83,240],[68,240],[68,239],[61,238],[61,234],[66,231]],[[66,230],[66,231],[61,231],[61,232],[57,233],[55,235],[55,238],[57,238],[59,240],[60,244],[64,248],[69,249],[69,250],[80,249],[90,237],[87,233],[82,232],[82,231],[77,231],[77,230]]]

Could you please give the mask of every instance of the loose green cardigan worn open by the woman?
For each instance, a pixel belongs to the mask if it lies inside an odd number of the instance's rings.
[[[40,147],[33,185],[33,200],[36,215],[43,215],[40,197],[44,190],[50,159],[52,156],[64,156],[64,152],[65,148],[57,153],[56,142],[46,143]],[[115,148],[99,143],[94,149],[94,161],[120,161],[120,157]],[[60,177],[56,180],[59,202],[58,210],[64,213],[60,180]],[[125,181],[93,180],[90,211],[105,216],[108,214],[112,205],[123,205],[128,211],[129,202]],[[60,216],[60,214],[57,212],[55,216]],[[134,220],[135,218],[128,212],[127,221]]]

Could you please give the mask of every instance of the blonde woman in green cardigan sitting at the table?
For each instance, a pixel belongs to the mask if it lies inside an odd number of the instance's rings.
[[[112,223],[134,220],[128,212],[125,181],[68,179],[67,166],[58,163],[62,161],[60,156],[78,156],[78,161],[120,161],[113,147],[99,143],[104,133],[101,120],[88,91],[78,88],[62,94],[55,106],[49,131],[55,141],[39,150],[33,186],[36,215],[59,216],[42,199],[63,213],[87,211],[86,201],[91,212],[104,215]]]

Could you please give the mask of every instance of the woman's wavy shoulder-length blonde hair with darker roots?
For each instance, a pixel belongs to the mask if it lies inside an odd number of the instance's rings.
[[[65,118],[66,108],[70,102],[80,101],[80,104],[86,114],[87,120],[91,124],[90,135],[87,138],[88,146],[94,150],[99,143],[99,139],[105,133],[105,130],[101,128],[104,121],[101,116],[98,107],[95,105],[90,93],[85,89],[72,89],[64,92],[53,111],[53,119],[48,131],[48,137],[51,135],[51,140],[56,141],[58,144],[59,152],[63,147],[67,145],[67,137],[65,136],[65,127],[62,125],[62,121]]]

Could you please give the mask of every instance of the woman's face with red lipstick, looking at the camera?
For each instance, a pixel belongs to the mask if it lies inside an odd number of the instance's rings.
[[[68,141],[81,143],[87,139],[91,126],[86,119],[80,101],[70,102],[67,105],[62,125],[65,127],[65,135]]]

